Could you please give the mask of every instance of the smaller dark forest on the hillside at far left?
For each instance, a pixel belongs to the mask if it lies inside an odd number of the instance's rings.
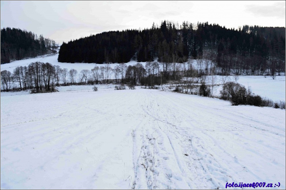
[[[3,28],[1,29],[1,64],[12,60],[36,57],[47,53],[56,53],[59,45],[43,35],[31,31]]]

